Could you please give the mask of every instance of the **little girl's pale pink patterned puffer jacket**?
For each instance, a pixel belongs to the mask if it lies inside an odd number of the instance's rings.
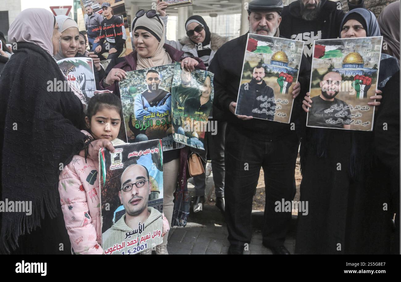
[[[90,134],[82,131],[86,135]],[[119,139],[112,141],[117,145]],[[99,163],[79,155],[59,176],[61,210],[65,227],[76,254],[102,254],[100,222]],[[163,232],[170,226],[163,214]]]

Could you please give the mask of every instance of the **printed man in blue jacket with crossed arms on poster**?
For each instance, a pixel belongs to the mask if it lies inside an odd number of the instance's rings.
[[[171,94],[159,89],[160,75],[155,69],[149,69],[146,73],[145,82],[148,89],[135,98],[135,118],[143,121],[144,116],[151,112],[171,114]]]

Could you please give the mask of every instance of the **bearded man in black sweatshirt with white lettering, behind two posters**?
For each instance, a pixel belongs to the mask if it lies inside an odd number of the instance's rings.
[[[305,41],[304,54],[312,63],[315,39],[333,39],[340,33],[345,12],[341,2],[330,0],[297,0],[285,6],[280,33],[294,40]],[[348,0],[348,8],[365,8],[364,0]]]

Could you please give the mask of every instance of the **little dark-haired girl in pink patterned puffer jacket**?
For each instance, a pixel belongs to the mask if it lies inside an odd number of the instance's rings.
[[[93,139],[107,139],[113,146],[123,145],[117,138],[122,118],[121,101],[112,93],[100,93],[91,98],[83,133]],[[79,155],[64,167],[59,176],[61,210],[74,254],[103,254],[101,247],[99,163]],[[163,234],[169,229],[163,215]]]

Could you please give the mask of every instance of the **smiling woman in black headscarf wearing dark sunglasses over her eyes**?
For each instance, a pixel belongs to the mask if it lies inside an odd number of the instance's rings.
[[[167,3],[158,0],[156,10],[160,14],[160,18],[164,21],[167,29],[167,14],[164,10]],[[205,20],[201,16],[190,16],[185,22],[186,37],[179,41],[166,40],[166,43],[178,50],[185,52],[185,55],[198,57],[209,67],[217,49],[228,41],[226,37],[222,37],[216,33],[211,33]]]

